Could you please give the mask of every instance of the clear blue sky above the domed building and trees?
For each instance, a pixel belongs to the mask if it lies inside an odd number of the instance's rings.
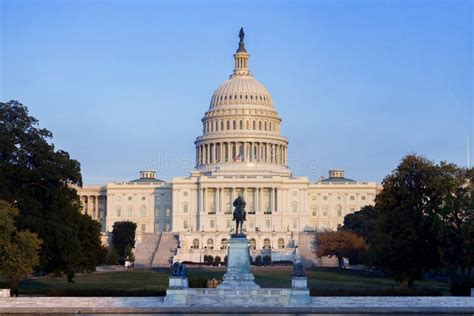
[[[27,105],[86,184],[192,169],[241,26],[295,174],[381,181],[407,153],[466,164],[471,1],[0,2],[0,100]]]

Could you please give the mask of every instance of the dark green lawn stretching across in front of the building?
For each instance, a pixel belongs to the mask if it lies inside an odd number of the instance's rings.
[[[291,267],[252,267],[256,282],[264,288],[290,287]],[[207,279],[222,279],[225,268],[188,268],[190,283]],[[390,291],[397,284],[388,278],[368,276],[353,271],[314,269],[306,271],[308,285],[317,293],[375,293]],[[96,296],[149,296],[164,295],[168,286],[169,270],[131,270],[78,274],[75,283],[67,283],[65,277],[29,278],[21,282],[20,293],[26,295],[96,295]],[[6,286],[0,280],[0,287]],[[419,290],[449,293],[449,282],[422,280],[415,283]],[[319,291],[319,292],[318,292]],[[322,291],[322,292],[321,292]],[[332,291],[332,292],[331,292]],[[341,292],[342,291],[342,292]]]

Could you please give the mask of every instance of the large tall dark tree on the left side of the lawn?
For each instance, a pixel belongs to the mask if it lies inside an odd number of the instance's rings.
[[[55,150],[51,138],[24,105],[0,103],[0,199],[19,209],[18,229],[43,241],[40,271],[92,270],[100,235],[80,213],[73,187],[82,185],[80,164]]]

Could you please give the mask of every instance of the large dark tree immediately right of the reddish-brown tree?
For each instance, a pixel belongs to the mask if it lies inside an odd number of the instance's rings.
[[[437,167],[408,155],[383,180],[376,197],[379,219],[371,244],[375,264],[402,286],[414,286],[423,270],[440,267],[437,213],[443,194]]]

